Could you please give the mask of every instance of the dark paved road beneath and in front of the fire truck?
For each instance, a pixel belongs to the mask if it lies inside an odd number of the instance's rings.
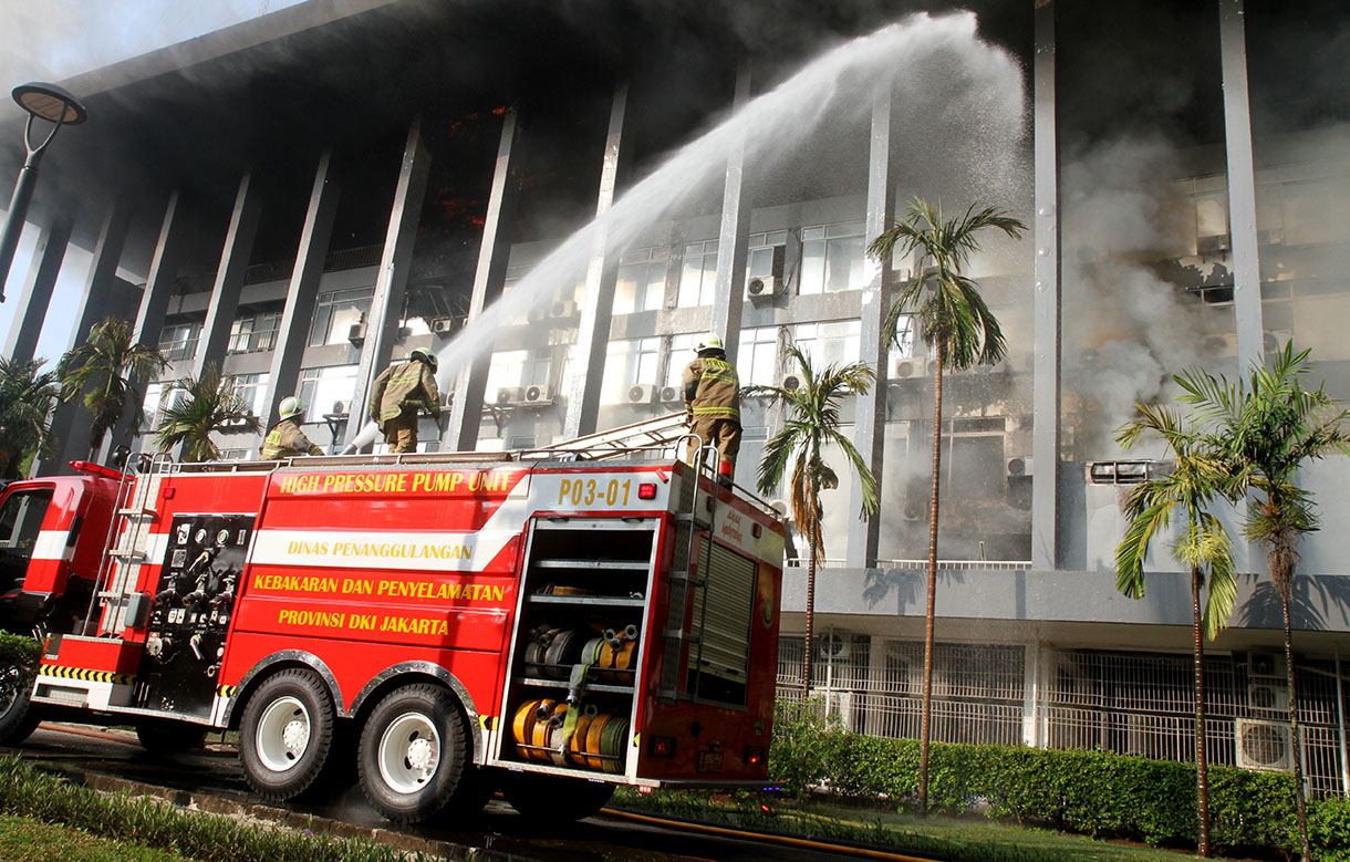
[[[0,749],[3,750],[3,749]],[[173,758],[154,758],[130,732],[96,727],[43,724],[19,749],[26,758],[72,770],[112,774],[158,786],[209,793],[243,804],[261,800],[250,793],[232,751],[207,750]],[[293,805],[294,811],[369,827],[389,828],[374,813],[356,786],[340,789],[325,804]],[[837,862],[853,855],[783,847],[761,840],[697,835],[683,830],[630,823],[597,816],[559,828],[541,828],[517,815],[509,805],[489,803],[473,830],[406,827],[409,835],[485,847],[543,862],[672,862],[716,859],[749,862]]]

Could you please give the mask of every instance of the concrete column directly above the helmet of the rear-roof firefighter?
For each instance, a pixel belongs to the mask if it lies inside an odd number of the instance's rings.
[[[740,111],[751,100],[751,62],[742,59],[736,69],[736,94],[732,109]],[[741,310],[745,308],[745,255],[751,236],[749,190],[745,188],[745,138],[726,155],[726,181],[722,186],[722,225],[717,232],[717,277],[713,282],[713,321],[709,329],[722,336],[726,360],[736,364],[741,341]],[[693,359],[693,357],[690,357]]]

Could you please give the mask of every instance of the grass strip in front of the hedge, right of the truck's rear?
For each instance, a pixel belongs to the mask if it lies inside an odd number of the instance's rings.
[[[782,832],[821,840],[857,842],[896,851],[940,854],[971,862],[1084,861],[1177,862],[1177,853],[1126,843],[1094,840],[1052,830],[1026,828],[980,819],[919,817],[892,811],[796,803],[753,795],[695,795],[660,791],[643,795],[621,789],[610,803],[639,813],[667,815],[728,828]]]

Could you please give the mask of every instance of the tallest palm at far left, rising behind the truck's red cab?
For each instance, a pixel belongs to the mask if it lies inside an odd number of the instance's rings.
[[[136,389],[169,367],[159,348],[132,343],[131,324],[105,317],[89,328],[89,339],[69,351],[57,364],[61,398],[74,401],[81,395],[89,411],[89,457],[96,457],[103,437],[113,428],[127,402],[135,410],[134,425],[140,426],[142,393]]]

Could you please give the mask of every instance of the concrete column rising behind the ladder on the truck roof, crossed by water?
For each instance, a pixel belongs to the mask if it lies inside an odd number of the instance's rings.
[[[599,414],[605,353],[609,351],[609,325],[614,314],[614,285],[618,281],[618,252],[616,250],[612,254],[606,248],[609,229],[605,213],[614,202],[626,108],[628,84],[624,82],[614,88],[614,101],[609,112],[605,161],[599,173],[599,201],[595,204],[595,235],[590,264],[586,267],[586,291],[582,294],[582,317],[572,353],[578,364],[571,368],[571,380],[567,383],[563,438],[594,433],[595,417]]]

